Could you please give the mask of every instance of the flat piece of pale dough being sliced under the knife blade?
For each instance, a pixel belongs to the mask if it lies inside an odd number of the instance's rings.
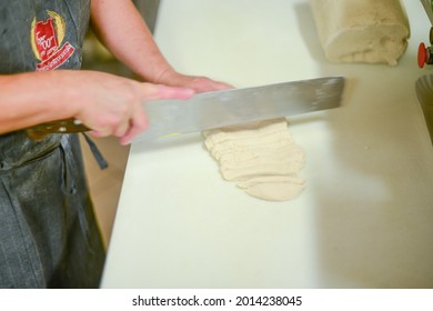
[[[203,132],[204,146],[225,180],[248,194],[270,201],[295,198],[305,180],[298,173],[304,152],[292,139],[284,118]]]

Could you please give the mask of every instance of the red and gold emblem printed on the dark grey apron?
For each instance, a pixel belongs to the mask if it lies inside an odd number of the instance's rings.
[[[66,23],[61,16],[53,11],[47,11],[49,18],[43,21],[33,19],[31,23],[30,42],[33,53],[40,63],[37,71],[54,70],[64,63],[74,52],[71,43],[63,39]]]

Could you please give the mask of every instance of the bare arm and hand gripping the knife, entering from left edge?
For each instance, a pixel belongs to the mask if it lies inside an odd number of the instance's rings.
[[[145,129],[142,103],[187,99],[190,89],[142,83],[95,71],[57,70],[0,76],[0,134],[52,120],[77,118],[93,134],[129,143]]]

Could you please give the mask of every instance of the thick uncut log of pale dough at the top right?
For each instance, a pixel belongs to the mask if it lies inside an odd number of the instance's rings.
[[[320,42],[333,62],[395,66],[410,26],[401,0],[310,0]]]

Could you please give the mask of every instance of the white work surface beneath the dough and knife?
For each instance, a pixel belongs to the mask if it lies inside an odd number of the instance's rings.
[[[397,67],[331,64],[302,0],[163,0],[157,40],[180,71],[236,87],[345,76],[342,108],[291,118],[306,188],[260,201],[188,134],[131,148],[103,288],[432,288],[433,148],[414,93],[412,27]],[[143,60],[145,61],[145,60]]]

